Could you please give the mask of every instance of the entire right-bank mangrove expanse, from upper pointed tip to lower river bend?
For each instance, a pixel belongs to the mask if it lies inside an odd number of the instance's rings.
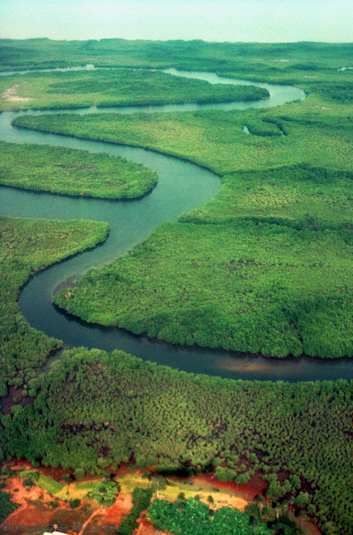
[[[140,113],[133,120],[58,114],[15,123],[155,149],[223,176],[212,201],[152,233],[131,257],[87,274],[68,299],[67,292],[56,296],[60,307],[173,343],[272,356],[353,354],[346,295],[353,116],[346,104],[312,94],[245,112]],[[255,223],[244,226],[242,218]]]

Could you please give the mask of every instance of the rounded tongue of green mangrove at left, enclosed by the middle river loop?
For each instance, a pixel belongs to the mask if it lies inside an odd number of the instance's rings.
[[[144,165],[78,149],[0,141],[0,184],[66,195],[141,197],[157,183]]]

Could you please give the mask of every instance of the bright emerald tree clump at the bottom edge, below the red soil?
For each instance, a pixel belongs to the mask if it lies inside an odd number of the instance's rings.
[[[250,516],[237,509],[221,507],[211,515],[205,503],[193,498],[174,503],[154,500],[147,517],[156,529],[173,535],[271,535],[264,523],[252,526]]]

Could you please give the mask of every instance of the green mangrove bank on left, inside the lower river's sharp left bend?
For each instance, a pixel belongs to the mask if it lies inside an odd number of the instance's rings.
[[[62,342],[28,325],[16,302],[30,276],[46,266],[104,241],[106,223],[0,217],[0,395],[6,384],[30,392],[35,369]]]

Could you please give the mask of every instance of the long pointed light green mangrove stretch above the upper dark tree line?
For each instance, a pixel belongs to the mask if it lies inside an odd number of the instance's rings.
[[[59,113],[55,117],[19,117],[14,124],[155,149],[190,159],[221,175],[288,165],[353,170],[353,111],[335,104],[322,110],[326,104],[310,95],[304,102],[274,109],[136,113],[133,117]],[[259,127],[274,121],[287,135],[247,135],[243,126],[250,119]]]

